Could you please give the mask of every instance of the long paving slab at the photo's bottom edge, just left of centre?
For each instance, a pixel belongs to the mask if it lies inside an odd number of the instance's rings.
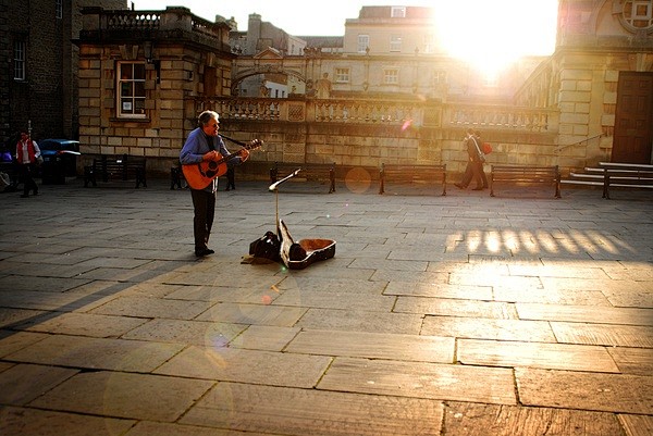
[[[433,435],[442,402],[315,389],[219,383],[184,424],[283,435]]]

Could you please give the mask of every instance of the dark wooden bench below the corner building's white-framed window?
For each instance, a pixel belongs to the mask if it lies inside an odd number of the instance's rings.
[[[145,162],[145,158],[127,154],[94,159],[93,165],[84,167],[84,187],[87,188],[89,183],[97,186],[98,178],[102,182],[136,180],[136,188],[147,187]]]

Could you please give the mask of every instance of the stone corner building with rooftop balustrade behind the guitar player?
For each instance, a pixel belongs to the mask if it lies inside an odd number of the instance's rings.
[[[186,8],[85,9],[77,45],[79,140],[88,159],[126,153],[152,158],[150,171],[169,170],[196,127],[196,98],[230,95],[229,32]]]

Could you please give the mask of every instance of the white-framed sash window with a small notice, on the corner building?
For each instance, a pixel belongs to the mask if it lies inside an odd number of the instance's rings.
[[[145,117],[145,63],[121,62],[118,68],[118,116]]]

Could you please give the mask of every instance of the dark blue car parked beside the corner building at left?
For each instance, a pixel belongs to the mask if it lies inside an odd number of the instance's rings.
[[[37,141],[44,163],[40,167],[45,184],[63,184],[65,177],[77,176],[79,141],[72,139],[42,139]]]

